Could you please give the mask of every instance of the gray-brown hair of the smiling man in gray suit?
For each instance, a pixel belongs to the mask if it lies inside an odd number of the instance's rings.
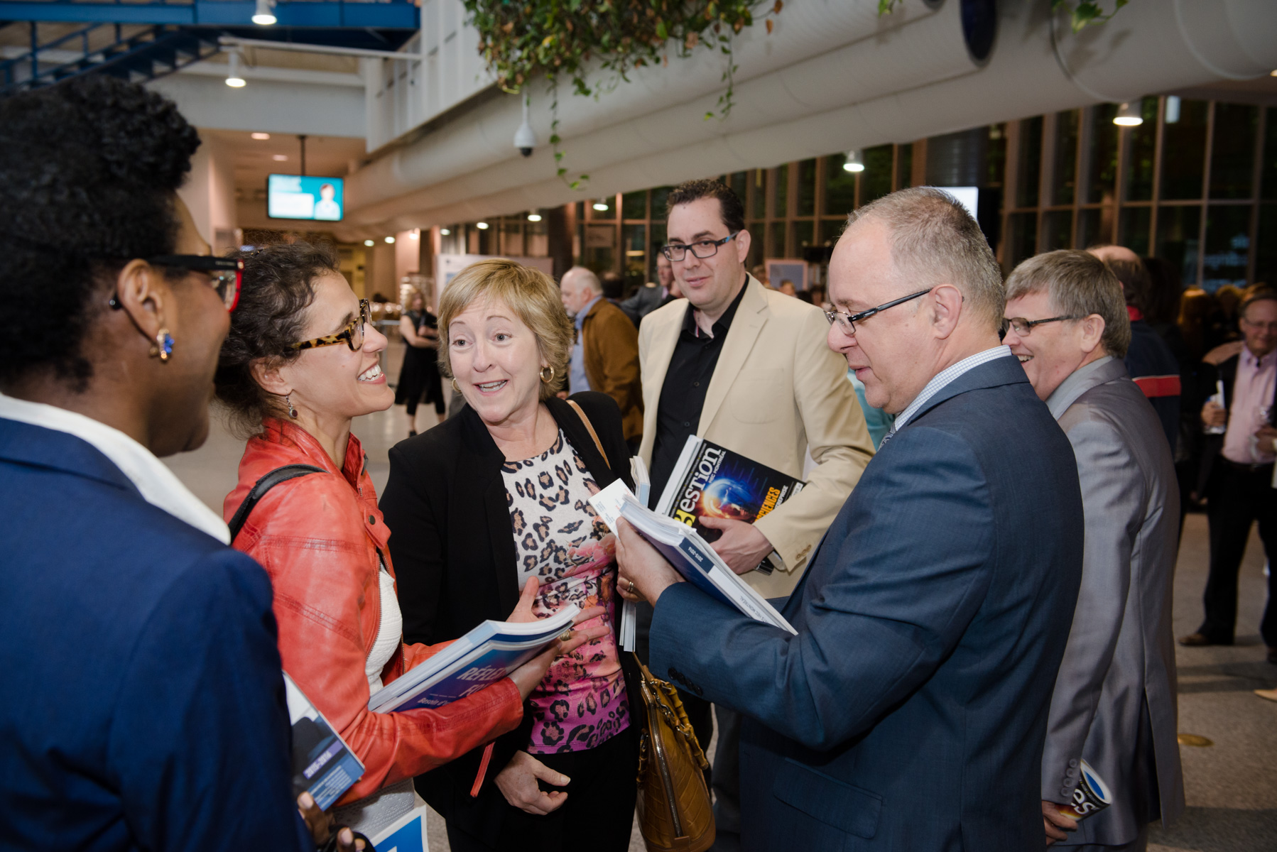
[[[1099,345],[1114,358],[1126,356],[1130,346],[1126,298],[1117,276],[1094,254],[1060,249],[1024,261],[1006,278],[1006,300],[1034,293],[1047,294],[1052,313],[1079,318],[1098,314],[1105,321]]]

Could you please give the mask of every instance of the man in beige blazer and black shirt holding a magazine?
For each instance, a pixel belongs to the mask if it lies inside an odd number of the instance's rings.
[[[669,243],[661,253],[686,298],[647,314],[638,330],[638,455],[651,471],[653,505],[691,434],[806,479],[802,492],[756,524],[702,519],[723,530],[714,549],[733,571],[766,598],[787,597],[873,456],[873,445],[847,361],[825,342],[824,312],[767,290],[744,271],[750,232],[736,193],[716,180],[692,180],[676,186],[668,204]],[[816,466],[803,476],[808,451]],[[756,570],[773,552],[771,574]],[[641,657],[650,620],[651,608],[642,607]],[[697,738],[707,745],[710,705],[693,695],[683,703]],[[739,717],[718,708],[718,720],[715,848],[734,848]]]

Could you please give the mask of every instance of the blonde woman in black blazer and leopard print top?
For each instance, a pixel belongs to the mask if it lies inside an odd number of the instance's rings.
[[[469,267],[444,290],[439,327],[441,360],[467,405],[391,450],[381,502],[405,640],[504,620],[530,576],[539,612],[600,604],[612,632],[555,662],[520,729],[419,775],[416,788],[447,820],[455,852],[623,851],[644,714],[617,641],[614,536],[586,502],[617,478],[633,487],[621,413],[604,393],[554,395],[573,328],[541,272]]]

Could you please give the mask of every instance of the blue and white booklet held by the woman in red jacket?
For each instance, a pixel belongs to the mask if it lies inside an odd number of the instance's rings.
[[[572,627],[575,603],[529,622],[485,621],[368,699],[373,713],[439,708],[495,683]]]

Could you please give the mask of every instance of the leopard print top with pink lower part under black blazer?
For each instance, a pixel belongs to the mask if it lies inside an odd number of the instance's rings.
[[[582,626],[605,625],[601,639],[586,643],[550,666],[533,691],[530,754],[584,751],[630,727],[630,705],[617,644],[616,536],[594,513],[599,491],[585,462],[561,430],[545,452],[502,465],[510,520],[518,552],[520,584],[540,580],[534,612],[545,617],[575,603],[604,607]]]

